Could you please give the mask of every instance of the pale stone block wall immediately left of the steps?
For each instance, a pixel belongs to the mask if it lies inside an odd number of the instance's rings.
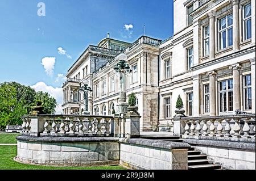
[[[120,163],[139,170],[187,170],[188,144],[145,139],[121,139]]]

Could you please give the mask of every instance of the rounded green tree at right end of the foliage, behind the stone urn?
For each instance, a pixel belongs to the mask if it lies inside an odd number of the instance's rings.
[[[57,106],[56,99],[53,98],[48,92],[36,92],[35,100],[38,102],[40,100],[42,102],[43,112],[46,114],[55,113],[55,107]]]

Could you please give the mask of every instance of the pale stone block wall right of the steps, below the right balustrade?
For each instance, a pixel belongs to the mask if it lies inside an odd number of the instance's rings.
[[[208,155],[214,163],[222,165],[228,170],[255,170],[255,138],[254,142],[218,141],[217,138],[209,140],[184,139],[196,150]],[[210,140],[211,139],[211,140]],[[230,140],[232,138],[229,138]]]

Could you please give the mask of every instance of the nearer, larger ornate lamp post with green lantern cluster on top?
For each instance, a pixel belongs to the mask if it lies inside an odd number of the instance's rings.
[[[119,62],[115,65],[114,70],[119,75],[120,80],[120,92],[119,92],[119,100],[117,104],[117,113],[125,114],[127,113],[127,107],[129,106],[128,103],[126,103],[126,76],[130,75],[131,69],[130,66],[126,63],[127,56],[126,54],[122,53],[119,54],[118,58]]]

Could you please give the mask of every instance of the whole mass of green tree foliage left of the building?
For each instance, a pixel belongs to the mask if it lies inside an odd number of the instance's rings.
[[[28,114],[37,100],[42,100],[46,113],[55,112],[56,100],[48,93],[36,92],[31,87],[16,82],[0,83],[0,129],[7,124],[22,124],[20,116]]]

